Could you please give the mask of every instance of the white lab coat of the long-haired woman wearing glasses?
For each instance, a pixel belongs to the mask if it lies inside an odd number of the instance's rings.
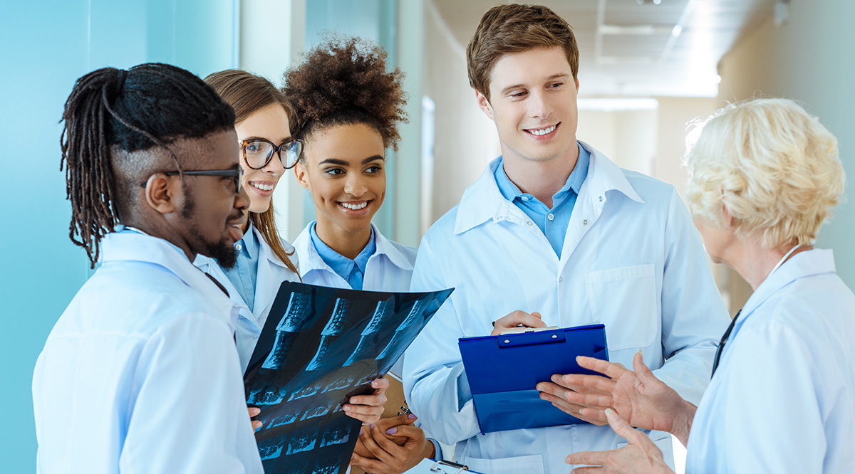
[[[250,364],[252,351],[255,350],[258,337],[262,334],[264,322],[267,321],[268,314],[270,313],[270,307],[273,306],[273,301],[276,299],[276,293],[279,291],[280,284],[285,281],[300,281],[297,277],[297,273],[292,272],[291,269],[289,269],[285,263],[282,262],[282,260],[279,260],[279,257],[273,253],[273,249],[270,247],[270,244],[264,240],[262,233],[256,229],[255,225],[252,226],[252,229],[256,232],[256,237],[258,237],[259,247],[256,296],[255,301],[252,304],[252,312],[250,312],[249,305],[246,304],[244,298],[241,297],[238,290],[234,288],[232,280],[229,280],[226,273],[222,271],[219,265],[217,265],[216,260],[199,255],[196,258],[196,261],[193,262],[193,264],[198,266],[200,270],[209,273],[210,276],[216,278],[216,281],[226,287],[232,301],[242,306],[238,318],[235,339],[238,343],[240,367],[244,372],[246,371],[246,366]],[[291,253],[293,251],[292,246],[286,241],[280,240],[280,243],[286,252]],[[294,255],[291,255],[291,261],[295,266],[298,265],[296,252]]]

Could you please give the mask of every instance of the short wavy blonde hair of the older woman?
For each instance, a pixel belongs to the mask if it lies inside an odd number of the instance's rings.
[[[840,202],[846,176],[837,139],[787,99],[728,105],[688,143],[686,197],[693,219],[720,227],[724,209],[738,237],[763,245],[810,245]]]

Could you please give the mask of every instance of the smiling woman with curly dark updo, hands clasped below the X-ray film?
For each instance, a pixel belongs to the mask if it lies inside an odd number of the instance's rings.
[[[398,124],[406,120],[402,78],[398,69],[386,71],[383,50],[357,38],[327,41],[286,73],[283,92],[303,122],[294,173],[317,214],[294,241],[305,283],[410,289],[416,249],[383,237],[371,223],[386,196],[385,150],[397,149]],[[415,419],[365,426],[351,464],[374,474],[402,472],[436,455],[433,442],[411,425]]]

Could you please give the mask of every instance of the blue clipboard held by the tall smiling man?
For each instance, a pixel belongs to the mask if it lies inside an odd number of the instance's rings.
[[[458,345],[481,434],[587,423],[541,400],[535,387],[557,373],[599,375],[576,364],[577,355],[609,360],[604,325],[462,337]]]

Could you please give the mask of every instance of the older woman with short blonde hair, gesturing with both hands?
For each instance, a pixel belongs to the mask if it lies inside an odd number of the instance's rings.
[[[657,380],[640,354],[634,372],[580,358],[606,377],[553,377],[545,389],[585,405],[583,415],[605,412],[628,440],[567,462],[601,466],[577,473],[670,472],[637,427],[686,444],[687,472],[852,472],[855,296],[832,251],[813,248],[843,193],[836,139],[792,101],[752,100],[705,123],[687,166],[707,252],[754,293],[722,336],[699,407]]]

